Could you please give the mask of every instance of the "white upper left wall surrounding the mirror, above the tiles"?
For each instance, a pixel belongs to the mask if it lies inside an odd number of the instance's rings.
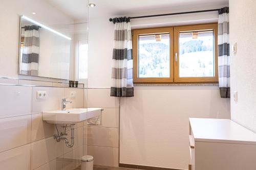
[[[36,12],[36,15],[33,15],[32,12]],[[17,0],[1,1],[0,77],[35,79],[28,76],[17,75],[20,15],[28,16],[67,35],[69,35],[67,27],[74,21],[56,8],[47,4],[46,1],[26,0],[23,3]],[[71,55],[71,58],[73,58],[73,55]],[[40,80],[42,80],[42,78]]]

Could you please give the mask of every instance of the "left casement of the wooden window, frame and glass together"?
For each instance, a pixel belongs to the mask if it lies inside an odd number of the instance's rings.
[[[173,82],[173,28],[133,30],[134,82]]]

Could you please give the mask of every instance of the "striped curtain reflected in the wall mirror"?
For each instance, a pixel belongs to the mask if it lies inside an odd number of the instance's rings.
[[[39,26],[25,26],[20,74],[38,76]]]

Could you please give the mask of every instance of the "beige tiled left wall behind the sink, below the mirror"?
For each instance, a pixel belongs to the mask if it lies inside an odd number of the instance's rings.
[[[47,99],[36,99],[36,91],[47,91]],[[67,107],[83,107],[82,88],[0,85],[0,169],[71,170],[79,165],[83,123],[76,125],[74,147],[67,148],[63,141],[53,139],[54,125],[42,121],[42,111],[60,109],[61,98],[70,91],[76,91],[76,96]]]

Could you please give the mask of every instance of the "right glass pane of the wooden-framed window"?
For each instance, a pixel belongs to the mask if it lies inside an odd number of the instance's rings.
[[[179,36],[179,77],[214,77],[214,31]]]

